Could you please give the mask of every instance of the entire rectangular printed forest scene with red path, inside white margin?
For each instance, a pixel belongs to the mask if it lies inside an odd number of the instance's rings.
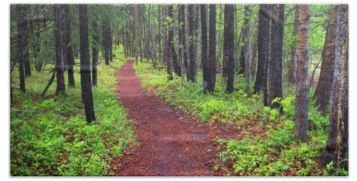
[[[348,176],[347,4],[10,12],[11,176]]]

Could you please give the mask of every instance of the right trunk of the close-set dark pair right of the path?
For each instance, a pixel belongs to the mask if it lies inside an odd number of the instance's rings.
[[[215,90],[216,84],[216,4],[210,4],[210,29],[208,47],[208,92]]]

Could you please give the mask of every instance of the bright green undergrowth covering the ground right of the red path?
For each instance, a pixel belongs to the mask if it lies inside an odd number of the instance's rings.
[[[295,87],[283,85],[283,115],[278,110],[264,107],[262,95],[246,90],[245,79],[235,77],[235,90],[225,94],[226,85],[217,75],[213,94],[203,94],[202,74],[197,82],[184,82],[174,74],[168,81],[166,69],[155,69],[144,62],[134,65],[136,75],[141,78],[143,89],[152,90],[188,114],[200,117],[203,122],[218,122],[242,128],[242,138],[222,140],[217,138],[219,158],[215,170],[224,169],[227,175],[245,176],[328,176],[328,166],[318,164],[325,151],[328,117],[324,118],[313,109],[313,92],[309,103],[309,141],[299,143],[293,139],[295,117]],[[239,81],[239,82],[238,82]],[[250,129],[252,128],[252,129]],[[348,175],[346,171],[336,175]]]

